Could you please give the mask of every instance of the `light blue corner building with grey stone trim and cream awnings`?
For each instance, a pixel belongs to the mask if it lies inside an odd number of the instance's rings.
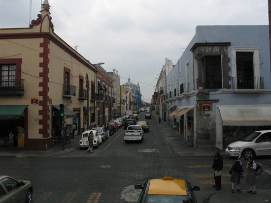
[[[268,26],[198,26],[167,76],[167,122],[201,149],[271,129],[270,70]]]

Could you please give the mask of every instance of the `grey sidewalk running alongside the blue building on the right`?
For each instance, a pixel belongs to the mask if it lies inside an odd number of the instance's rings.
[[[152,116],[158,122],[158,116],[155,114],[152,114]],[[176,156],[214,156],[214,150],[199,150],[196,147],[188,147],[182,136],[165,121],[161,120],[159,127]],[[226,155],[225,151],[222,150],[220,154],[222,156]]]

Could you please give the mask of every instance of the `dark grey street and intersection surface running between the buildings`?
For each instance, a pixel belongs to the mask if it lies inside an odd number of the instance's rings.
[[[139,120],[144,120],[144,113]],[[100,145],[94,153],[76,149],[64,157],[0,157],[0,174],[31,180],[34,203],[127,203],[136,202],[135,184],[148,178],[173,176],[201,187],[199,203],[215,193],[210,165],[212,157],[177,157],[165,141],[155,119],[142,143],[125,143],[124,129]],[[260,158],[268,166],[271,157]],[[233,159],[224,157],[225,171]],[[227,167],[228,166],[228,167]],[[268,168],[266,168],[269,170]],[[223,190],[230,190],[229,174],[222,178]],[[259,177],[261,188],[271,188],[271,177]],[[246,190],[244,180],[241,189]],[[222,192],[223,192],[222,190]]]

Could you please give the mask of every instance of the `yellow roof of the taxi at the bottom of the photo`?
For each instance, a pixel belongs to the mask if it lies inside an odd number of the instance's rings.
[[[151,179],[149,195],[187,195],[185,180],[163,177]]]

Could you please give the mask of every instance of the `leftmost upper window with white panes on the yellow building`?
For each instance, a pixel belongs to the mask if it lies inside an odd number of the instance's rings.
[[[15,73],[16,65],[15,64],[3,64],[0,66],[0,81],[1,86],[15,86]]]

